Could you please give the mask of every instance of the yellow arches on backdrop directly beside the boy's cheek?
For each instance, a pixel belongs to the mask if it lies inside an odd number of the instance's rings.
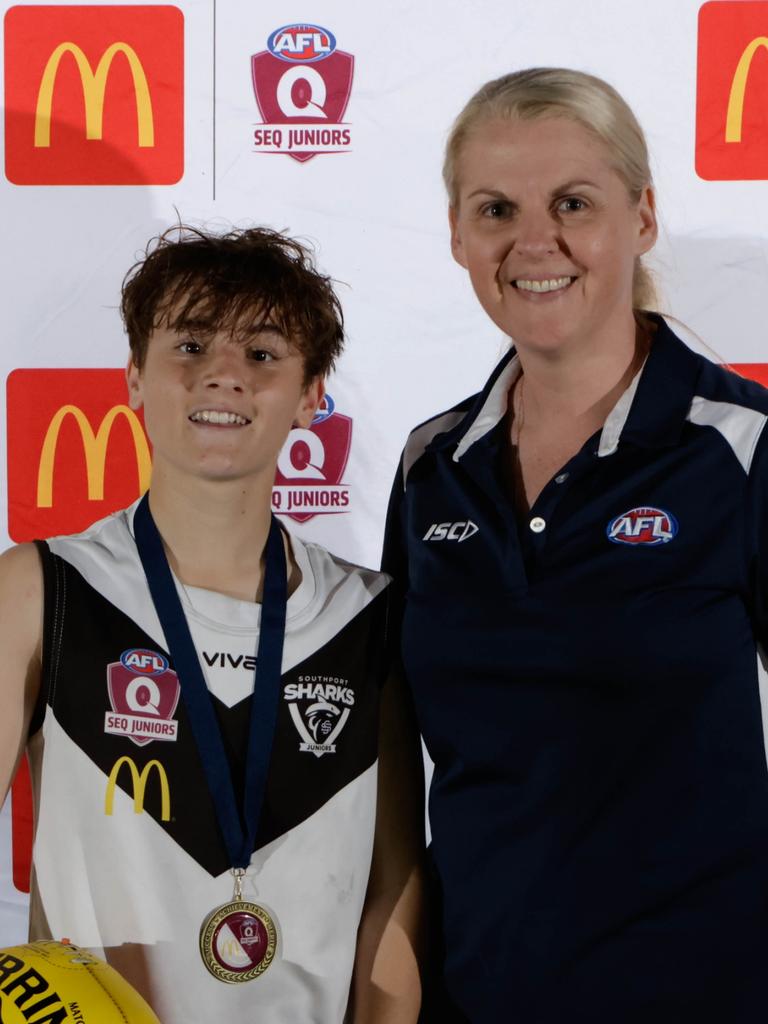
[[[133,449],[136,454],[136,468],[138,469],[138,485],[143,494],[150,486],[152,475],[152,457],[150,445],[146,442],[138,417],[128,406],[113,406],[104,416],[97,430],[93,430],[90,422],[77,406],[62,406],[52,418],[45,433],[43,446],[40,452],[40,466],[37,474],[37,506],[41,509],[51,508],[53,505],[53,463],[56,457],[56,445],[61,424],[68,416],[75,418],[80,428],[80,436],[83,441],[85,453],[85,469],[88,480],[88,501],[100,502],[104,497],[104,466],[106,463],[106,449],[110,442],[115,420],[119,416],[124,416],[128,422],[133,436]]]

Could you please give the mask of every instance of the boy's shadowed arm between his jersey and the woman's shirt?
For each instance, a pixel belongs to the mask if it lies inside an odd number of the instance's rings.
[[[418,1019],[423,857],[424,762],[410,694],[397,673],[382,691],[376,837],[357,933],[350,1024]]]

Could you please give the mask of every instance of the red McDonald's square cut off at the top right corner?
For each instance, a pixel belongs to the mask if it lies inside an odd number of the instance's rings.
[[[768,0],[711,0],[699,10],[696,173],[768,179]]]

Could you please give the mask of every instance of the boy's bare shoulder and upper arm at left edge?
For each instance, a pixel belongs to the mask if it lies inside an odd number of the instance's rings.
[[[0,807],[27,745],[40,690],[43,580],[33,544],[0,555]]]

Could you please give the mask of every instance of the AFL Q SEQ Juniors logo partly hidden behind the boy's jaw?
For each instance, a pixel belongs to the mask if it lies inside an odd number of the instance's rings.
[[[349,487],[341,478],[352,443],[352,421],[336,412],[330,394],[308,429],[295,427],[278,459],[272,511],[296,522],[349,512]]]

